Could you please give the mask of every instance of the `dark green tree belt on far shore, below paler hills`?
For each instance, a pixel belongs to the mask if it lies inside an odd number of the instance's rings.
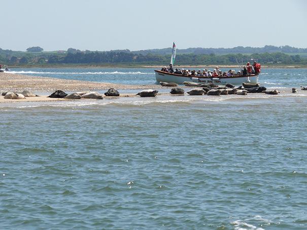
[[[300,55],[278,53],[244,54],[178,54],[176,65],[237,64],[241,60],[257,59],[262,64],[307,64],[307,58]],[[0,56],[2,64],[152,64],[166,65],[169,55],[134,54],[131,52],[64,52],[64,53],[25,53],[21,56]]]

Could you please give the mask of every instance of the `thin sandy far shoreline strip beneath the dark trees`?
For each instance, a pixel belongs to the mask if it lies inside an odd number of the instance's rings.
[[[261,63],[260,63],[261,64]],[[167,64],[164,64],[167,65]],[[148,65],[148,64],[52,64],[52,65],[9,65],[9,68],[161,68],[163,65]],[[221,68],[238,68],[238,65],[174,65],[175,67],[195,67],[195,68],[212,68],[219,66]],[[307,65],[277,65],[263,64],[262,68],[307,68]]]

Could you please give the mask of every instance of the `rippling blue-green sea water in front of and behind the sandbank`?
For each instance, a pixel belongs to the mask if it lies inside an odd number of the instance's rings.
[[[153,68],[13,72],[155,83]],[[259,82],[289,94],[1,103],[0,228],[307,229],[307,69]]]

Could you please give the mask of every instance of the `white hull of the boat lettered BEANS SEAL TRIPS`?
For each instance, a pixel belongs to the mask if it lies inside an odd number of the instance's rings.
[[[175,82],[177,84],[183,84],[184,82],[197,82],[197,83],[215,83],[217,85],[242,85],[242,83],[258,83],[258,75],[251,74],[248,76],[234,75],[234,76],[184,76],[181,74],[164,72],[161,70],[155,70],[157,82]]]

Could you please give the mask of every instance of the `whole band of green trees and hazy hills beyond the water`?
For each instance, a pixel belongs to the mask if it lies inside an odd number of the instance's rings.
[[[34,50],[43,50],[40,47],[32,47]],[[40,48],[40,49],[39,49]],[[265,46],[264,48],[251,48],[251,49],[269,49],[274,51],[278,47]],[[287,49],[286,49],[287,48]],[[250,59],[256,59],[261,64],[275,64],[275,65],[307,65],[307,58],[298,51],[304,51],[300,48],[289,48],[286,46],[278,49],[285,51],[295,51],[293,55],[283,52],[264,52],[253,53],[248,47],[244,48],[248,54],[231,53],[231,54],[203,54],[197,49],[206,50],[203,48],[190,48],[194,49],[192,53],[177,53],[176,65],[236,65],[243,60],[244,62]],[[29,48],[30,49],[30,48]],[[27,49],[27,50],[29,50]],[[243,48],[232,48],[240,51]],[[33,50],[33,49],[31,49]],[[217,50],[229,50],[219,48]],[[307,50],[307,49],[306,49]],[[12,50],[0,49],[0,63],[8,65],[165,65],[169,62],[169,54],[157,54],[157,50],[151,50],[152,53],[143,53],[143,51],[129,51],[129,50],[116,50],[108,52],[99,51],[80,51],[70,48],[67,51],[54,51],[54,52],[21,52]],[[197,51],[197,52],[196,52]]]

